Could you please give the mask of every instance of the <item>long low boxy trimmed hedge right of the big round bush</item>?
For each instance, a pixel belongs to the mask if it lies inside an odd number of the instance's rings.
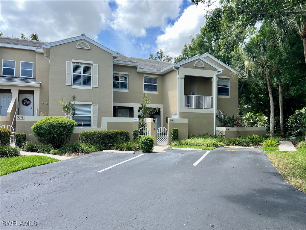
[[[79,134],[80,143],[99,144],[112,146],[116,142],[130,141],[130,133],[127,130],[90,130]]]

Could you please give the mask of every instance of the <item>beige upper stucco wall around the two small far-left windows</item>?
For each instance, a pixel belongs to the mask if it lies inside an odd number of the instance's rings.
[[[20,62],[33,62],[33,78],[36,78],[36,53],[33,50],[13,49],[1,47],[0,67],[2,71],[2,59],[16,61],[15,77],[20,77]]]

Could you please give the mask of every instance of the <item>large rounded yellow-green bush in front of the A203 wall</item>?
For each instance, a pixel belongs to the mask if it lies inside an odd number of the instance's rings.
[[[65,117],[45,117],[32,126],[32,131],[39,142],[59,148],[69,141],[76,126],[75,121]]]

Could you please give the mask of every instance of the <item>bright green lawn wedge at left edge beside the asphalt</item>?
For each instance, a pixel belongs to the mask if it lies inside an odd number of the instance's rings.
[[[47,156],[37,155],[4,157],[0,159],[0,176],[57,161],[59,160]]]

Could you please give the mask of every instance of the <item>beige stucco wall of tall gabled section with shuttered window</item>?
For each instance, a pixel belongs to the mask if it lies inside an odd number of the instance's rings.
[[[90,45],[90,50],[76,48],[80,41],[73,41],[50,48],[50,80],[49,80],[49,115],[62,114],[62,106],[59,104],[62,98],[65,101],[76,95],[76,101],[92,102],[98,105],[98,117],[112,117],[112,89],[113,89],[113,57],[103,49]],[[87,41],[85,41],[87,42]],[[98,64],[98,86],[92,89],[76,89],[66,83],[66,61],[84,60]],[[98,127],[101,120],[98,119]]]

